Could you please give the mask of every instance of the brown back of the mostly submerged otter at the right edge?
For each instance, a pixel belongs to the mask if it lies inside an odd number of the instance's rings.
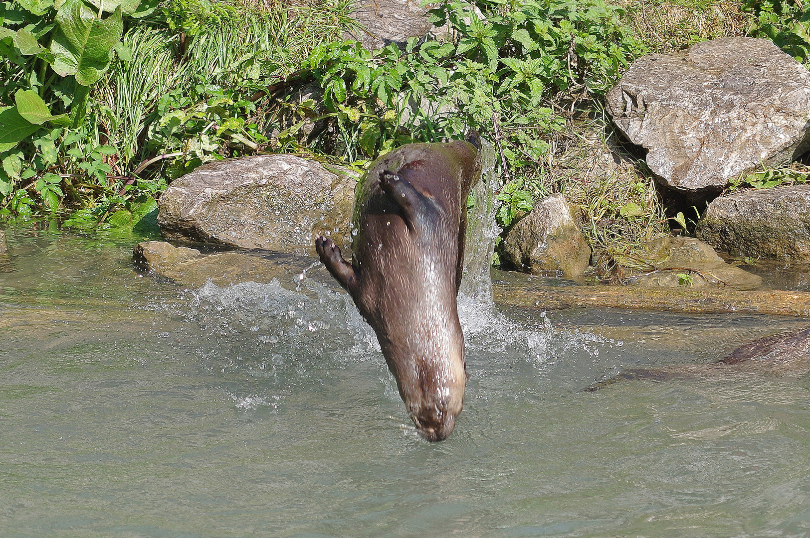
[[[629,368],[582,390],[595,392],[622,379],[662,382],[707,379],[724,373],[805,375],[808,371],[810,371],[810,327],[746,342],[727,357],[709,364]]]

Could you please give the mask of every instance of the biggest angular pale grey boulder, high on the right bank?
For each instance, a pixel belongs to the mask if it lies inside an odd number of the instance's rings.
[[[810,72],[770,40],[723,37],[633,62],[608,93],[622,133],[676,189],[722,189],[810,145]]]

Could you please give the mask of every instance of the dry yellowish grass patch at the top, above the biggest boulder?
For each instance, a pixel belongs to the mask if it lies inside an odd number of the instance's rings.
[[[671,53],[698,41],[744,36],[750,15],[736,0],[620,0],[627,23],[650,52]]]

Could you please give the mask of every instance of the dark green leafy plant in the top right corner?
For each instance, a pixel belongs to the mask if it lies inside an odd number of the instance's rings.
[[[765,37],[795,57],[810,58],[810,11],[797,0],[744,0],[754,17],[751,35]]]

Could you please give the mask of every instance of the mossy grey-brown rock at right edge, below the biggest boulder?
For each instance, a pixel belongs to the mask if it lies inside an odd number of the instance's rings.
[[[715,198],[697,237],[732,256],[810,263],[810,185],[751,189]]]

